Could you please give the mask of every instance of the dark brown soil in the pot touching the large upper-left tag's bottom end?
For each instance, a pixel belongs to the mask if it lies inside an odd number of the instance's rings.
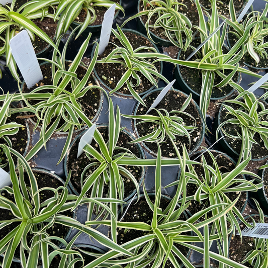
[[[66,69],[68,69],[70,65],[71,65],[71,62],[65,62]],[[23,87],[23,92],[24,93],[30,93],[35,88],[37,88],[38,86],[53,84],[50,64],[42,65],[41,70],[42,70],[44,79],[40,80],[38,83],[36,83],[36,85],[34,85],[30,89],[28,87],[26,87],[26,84],[24,84],[24,87]],[[86,69],[84,67],[82,67],[82,66],[78,66],[76,73],[77,73],[77,78],[79,80],[81,80],[83,78],[83,76],[85,75],[85,73],[86,73]],[[94,77],[92,75],[88,78],[87,83],[85,84],[85,86],[87,86],[87,85],[97,85],[96,80],[94,79]],[[70,83],[65,87],[65,90],[68,91],[68,92],[72,92],[72,88],[71,88]],[[53,93],[53,90],[49,90],[49,89],[42,90],[42,91],[39,91],[39,93]],[[28,101],[29,101],[29,103],[31,105],[36,105],[36,104],[39,103],[38,100],[28,100]],[[77,103],[79,103],[81,105],[81,109],[82,109],[84,115],[88,119],[92,120],[96,116],[96,114],[97,114],[97,112],[99,110],[99,107],[101,105],[101,103],[100,103],[100,101],[101,101],[101,91],[99,89],[97,89],[97,88],[92,88],[91,90],[88,90],[87,93],[82,98],[76,99],[76,101],[77,101]],[[34,114],[30,113],[30,112],[27,112],[27,115],[34,115]],[[67,114],[66,114],[66,116],[67,116]],[[31,119],[35,123],[37,122],[37,117],[36,116],[31,117]],[[53,122],[54,121],[52,121],[52,123]],[[80,120],[80,122],[81,122],[81,120]],[[64,123],[65,123],[65,120],[63,118],[61,118],[58,127],[62,126]],[[39,126],[41,126],[41,125],[42,125],[42,122],[40,122]],[[84,123],[84,125],[85,125],[85,123]],[[76,129],[77,129],[77,127],[74,128],[74,130],[76,130]]]

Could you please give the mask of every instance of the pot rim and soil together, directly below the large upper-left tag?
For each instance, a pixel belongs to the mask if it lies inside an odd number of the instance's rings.
[[[66,60],[65,64],[67,66],[70,66],[71,61]],[[43,74],[44,79],[40,80],[35,86],[31,87],[30,89],[26,86],[25,81],[23,81],[22,85],[21,85],[21,90],[23,93],[31,93],[31,91],[35,90],[35,88],[37,88],[38,86],[43,86],[43,85],[51,85],[53,80],[52,80],[52,76],[51,76],[51,67],[50,64],[48,62],[43,62],[40,64],[41,67],[41,71]],[[76,73],[77,73],[77,78],[81,79],[84,74],[86,72],[86,68],[83,65],[79,65]],[[88,78],[87,80],[87,85],[100,85],[98,80],[96,79],[94,74],[91,74],[91,76]],[[67,86],[65,88],[65,90],[70,91],[71,92],[71,87]],[[39,93],[53,93],[53,90],[42,90],[39,91]],[[103,104],[103,99],[104,99],[104,94],[101,90],[99,90],[98,88],[93,88],[92,90],[88,90],[87,93],[84,95],[83,98],[79,98],[77,99],[77,102],[81,105],[82,111],[83,113],[86,115],[86,117],[88,119],[91,120],[91,122],[96,122],[100,116],[100,113],[102,111],[102,104]],[[36,105],[39,102],[41,102],[42,99],[39,100],[35,100],[34,98],[32,100],[29,100],[29,103],[31,105]],[[22,107],[24,107],[24,102],[21,102]],[[29,116],[29,120],[31,121],[32,124],[34,124],[34,126],[36,126],[37,123],[37,117],[35,116],[35,114],[31,113],[31,112],[25,112],[27,116]],[[65,121],[63,118],[60,119],[60,123],[59,123],[59,127],[64,124]],[[38,125],[38,128],[41,128],[41,125]],[[84,126],[81,126],[80,129],[78,128],[74,128],[74,133],[75,132],[79,132],[81,130],[84,130],[85,128],[87,128],[87,125],[84,124]],[[57,134],[68,134],[68,132],[57,132]]]

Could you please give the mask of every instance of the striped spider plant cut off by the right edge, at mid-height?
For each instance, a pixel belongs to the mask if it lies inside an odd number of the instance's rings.
[[[267,93],[262,96],[263,100],[267,97]],[[268,128],[266,122],[268,109],[265,108],[265,105],[260,101],[260,98],[257,99],[252,92],[246,91],[241,92],[234,100],[226,101],[226,103],[227,104],[223,104],[223,106],[232,118],[227,119],[218,126],[216,138],[218,138],[221,129],[227,137],[242,141],[238,162],[241,161],[242,157],[247,158],[252,143],[258,144],[254,140],[256,133],[259,134],[265,148],[268,149]],[[238,108],[234,109],[229,106],[228,103],[238,105]],[[237,135],[229,134],[228,131],[223,129],[223,126],[227,123],[239,126],[241,131],[239,131],[239,133],[237,132]]]

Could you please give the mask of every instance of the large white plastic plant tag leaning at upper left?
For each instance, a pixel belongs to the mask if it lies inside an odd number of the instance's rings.
[[[43,79],[43,75],[27,31],[23,30],[10,40],[14,56],[28,88]]]

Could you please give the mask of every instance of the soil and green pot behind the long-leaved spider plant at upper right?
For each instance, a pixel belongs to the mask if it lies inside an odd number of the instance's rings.
[[[198,47],[200,45],[200,39],[195,39],[192,44],[194,47]],[[183,52],[182,49],[178,52],[177,59],[178,60],[186,60],[188,56],[193,52],[194,48],[188,48],[186,52]],[[224,49],[228,51],[226,45],[223,46],[223,52]],[[194,57],[192,57],[191,60],[194,60]],[[230,70],[225,70],[224,74],[229,74]],[[180,89],[187,93],[192,94],[193,99],[196,102],[199,102],[200,100],[200,93],[201,93],[201,87],[202,87],[202,73],[201,70],[195,69],[195,68],[189,68],[186,66],[178,65],[175,68],[175,78],[176,82],[180,86]],[[241,81],[241,74],[237,72],[234,76],[234,80],[236,83],[240,83]],[[222,78],[215,73],[215,79],[214,84],[218,84],[222,81]],[[228,98],[231,96],[235,91],[235,88],[233,88],[231,85],[226,84],[222,87],[213,87],[211,98],[210,100],[222,100],[225,98]]]

